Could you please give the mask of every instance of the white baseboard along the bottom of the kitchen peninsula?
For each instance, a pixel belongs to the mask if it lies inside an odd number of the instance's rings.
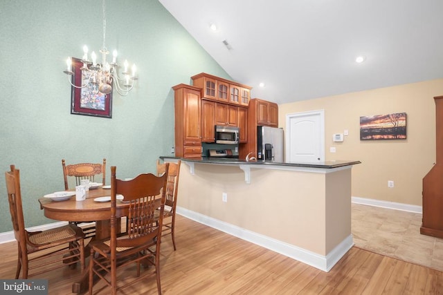
[[[340,260],[343,255],[345,255],[345,253],[354,245],[352,235],[350,235],[332,251],[330,251],[327,256],[322,256],[306,249],[290,245],[280,240],[269,238],[268,236],[263,236],[262,234],[257,234],[253,231],[248,231],[247,229],[242,229],[241,227],[237,227],[235,225],[230,225],[227,222],[204,216],[200,213],[190,211],[182,207],[177,207],[177,214],[185,216],[191,220],[195,220],[203,225],[207,225],[208,227],[218,229],[219,231],[224,231],[226,234],[236,236],[242,240],[247,240],[255,245],[259,245],[284,256],[293,258],[307,265],[311,265],[312,267],[316,267],[323,272],[329,272],[329,270],[334,267],[338,260]]]

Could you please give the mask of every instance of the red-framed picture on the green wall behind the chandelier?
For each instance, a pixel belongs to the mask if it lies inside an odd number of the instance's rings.
[[[87,83],[89,73],[82,70],[83,61],[75,57],[72,58],[71,83],[81,86]],[[109,94],[100,93],[98,85],[89,84],[87,86],[71,86],[71,114],[88,115],[94,117],[112,117],[112,91]]]

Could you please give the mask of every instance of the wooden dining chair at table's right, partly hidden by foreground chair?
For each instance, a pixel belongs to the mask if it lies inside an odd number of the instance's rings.
[[[163,236],[170,234],[172,236],[172,245],[175,247],[175,209],[177,207],[177,191],[179,189],[179,176],[180,176],[180,164],[181,160],[176,163],[169,163],[168,170],[168,185],[166,187],[166,200],[165,210],[163,211]],[[160,160],[157,160],[157,176],[165,173],[166,164],[160,164]],[[158,219],[160,210],[156,210],[156,218]],[[167,218],[165,220],[165,218]]]

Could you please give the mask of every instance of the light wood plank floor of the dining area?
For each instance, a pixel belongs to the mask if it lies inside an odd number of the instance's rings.
[[[177,216],[177,251],[163,238],[163,294],[443,294],[443,273],[353,247],[330,272]],[[0,278],[13,278],[16,245],[0,245]],[[151,271],[147,269],[145,271]],[[126,272],[125,274],[132,274]],[[70,294],[78,270],[48,278],[49,294]],[[94,291],[109,294],[104,284]],[[121,294],[156,294],[155,279]]]

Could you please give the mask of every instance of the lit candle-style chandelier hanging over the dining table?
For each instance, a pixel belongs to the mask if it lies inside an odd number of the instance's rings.
[[[112,54],[112,62],[109,64],[107,62],[107,55],[109,55],[109,51],[105,46],[106,39],[106,15],[105,15],[105,0],[102,3],[103,10],[103,46],[100,50],[102,54],[102,64],[97,63],[97,55],[93,51],[91,53],[91,61],[88,59],[88,48],[87,46],[83,46],[83,57],[81,59],[82,67],[80,70],[82,71],[82,85],[75,85],[73,76],[75,73],[72,70],[72,59],[68,57],[66,59],[66,70],[63,71],[66,75],[68,75],[68,81],[71,86],[75,88],[90,88],[93,93],[103,93],[109,94],[112,92],[113,88],[122,96],[126,96],[129,91],[134,87],[134,81],[138,78],[136,77],[136,65],[133,64],[131,68],[131,73],[128,70],[128,62],[125,60],[123,64],[123,73],[122,76],[118,76],[118,64],[117,60],[117,50],[114,50]],[[70,79],[71,78],[71,79]],[[74,83],[73,83],[74,82]],[[114,86],[114,87],[113,87]]]

